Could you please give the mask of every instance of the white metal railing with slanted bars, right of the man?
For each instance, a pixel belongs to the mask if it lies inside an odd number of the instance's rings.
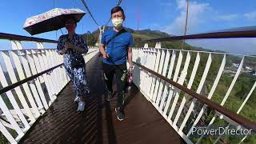
[[[239,61],[236,67],[227,66],[227,61],[231,62],[230,58],[236,58],[236,62]],[[227,101],[231,100],[231,97],[234,98],[234,94],[231,95],[231,92],[234,90],[234,85],[238,82],[238,78],[242,78],[242,73],[250,74],[251,77],[255,77],[250,79],[252,85],[250,86],[250,90],[245,92],[246,95],[241,96],[242,100],[238,102],[238,109],[232,110],[237,114],[244,108],[248,99],[256,95],[254,92],[256,76],[253,76],[252,71],[249,73],[247,70],[246,73],[246,69],[251,68],[245,66],[247,62],[252,59],[256,64],[256,57],[253,56],[164,49],[161,48],[160,42],[156,43],[155,48],[149,48],[148,45],[145,44],[144,48],[133,49],[134,62],[146,66],[150,70],[154,70],[154,72],[162,74],[166,78],[178,82],[178,84],[186,86],[190,90],[194,90],[198,94],[206,95],[209,99],[215,97],[213,101],[218,102],[221,106],[224,106]],[[216,63],[218,63],[218,65]],[[235,65],[232,62],[231,64]],[[235,69],[232,70],[233,75],[226,73],[230,67]],[[256,67],[254,68],[256,69]],[[226,75],[228,75],[229,79],[232,81],[230,83],[224,83],[226,84],[226,90],[222,90],[222,85],[225,81],[221,82],[221,78],[226,78]],[[250,83],[247,83],[247,85]],[[230,126],[235,126],[237,129],[243,128],[243,126],[232,121],[232,119],[214,110],[211,110],[214,115],[208,115],[208,117],[206,117],[209,118],[209,123],[204,123],[203,125],[199,124],[199,121],[206,119],[205,116],[202,117],[203,114],[206,114],[206,110],[209,110],[206,104],[203,105],[197,102],[197,99],[190,97],[189,94],[182,93],[182,90],[171,86],[161,78],[150,74],[137,65],[134,66],[134,84],[138,86],[142,94],[153,104],[158,112],[162,114],[163,118],[166,118],[170,126],[172,126],[187,143],[203,143],[206,142],[202,141],[203,138],[210,137],[202,134],[200,137],[194,138],[192,130],[196,126],[205,126],[206,129],[209,129],[210,126],[214,126],[214,124],[218,123],[216,121],[224,121],[226,125],[223,125],[223,127],[226,129]],[[208,88],[209,93],[206,92],[207,86],[210,87]],[[222,91],[223,95],[218,95],[220,91]],[[255,109],[256,107],[254,106],[252,108]],[[249,118],[251,121],[256,121],[256,119],[251,119],[248,115],[246,116],[246,118]],[[225,137],[228,136],[215,136],[213,142],[219,142],[221,138]],[[246,137],[247,135],[240,136],[238,142],[243,142]]]

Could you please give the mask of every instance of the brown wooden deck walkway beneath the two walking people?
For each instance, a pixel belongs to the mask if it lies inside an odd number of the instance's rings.
[[[85,112],[76,112],[74,90],[68,84],[21,143],[185,143],[135,86],[126,95],[126,118],[119,122],[115,97],[105,100],[101,67],[97,56],[86,65],[91,93]]]

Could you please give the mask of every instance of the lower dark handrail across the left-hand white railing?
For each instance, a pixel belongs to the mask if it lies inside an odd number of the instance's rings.
[[[0,94],[4,94],[4,93],[6,93],[6,92],[9,91],[9,90],[14,89],[15,87],[20,86],[20,85],[22,85],[22,84],[25,83],[25,82],[29,82],[29,81],[33,80],[34,78],[38,78],[38,77],[41,76],[42,74],[46,74],[46,73],[48,73],[48,72],[50,72],[50,71],[52,71],[52,70],[54,70],[54,69],[56,69],[56,68],[58,68],[59,66],[62,66],[62,65],[63,65],[63,63],[62,63],[62,64],[59,64],[58,66],[54,66],[54,67],[52,67],[52,68],[50,68],[50,69],[48,69],[48,70],[44,70],[44,71],[42,71],[41,73],[34,74],[34,75],[32,75],[31,77],[29,77],[29,78],[23,79],[22,81],[15,82],[14,84],[11,84],[10,86],[6,86],[6,87],[4,87],[4,88],[2,88],[2,89],[0,90]]]

